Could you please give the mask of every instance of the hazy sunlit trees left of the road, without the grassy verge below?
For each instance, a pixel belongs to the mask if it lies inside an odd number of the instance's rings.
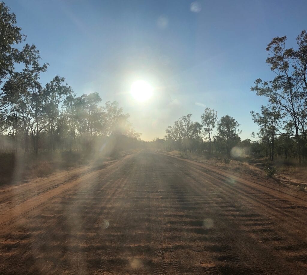
[[[40,77],[49,64],[41,65],[39,51],[25,39],[15,14],[0,2],[0,150],[91,152],[106,143],[115,148],[115,141],[121,148],[139,145],[140,134],[117,102],[101,107],[97,92],[76,97],[64,77],[43,86]]]

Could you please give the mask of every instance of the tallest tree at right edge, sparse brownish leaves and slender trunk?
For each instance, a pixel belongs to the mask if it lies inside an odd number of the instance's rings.
[[[295,128],[295,138],[301,163],[300,137],[307,142],[307,32],[303,30],[297,37],[297,50],[286,49],[287,37],[275,37],[266,48],[272,56],[266,59],[276,77],[270,81],[255,81],[251,91],[266,96],[275,104]]]

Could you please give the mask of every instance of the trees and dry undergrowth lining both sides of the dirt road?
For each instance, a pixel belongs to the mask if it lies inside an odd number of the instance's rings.
[[[247,163],[269,177],[307,176],[307,32],[296,48],[287,37],[275,37],[266,59],[275,73],[256,79],[251,91],[268,104],[251,117],[258,132],[241,140],[236,118],[206,108],[199,121],[182,116],[165,130],[165,137],[144,143],[129,114],[98,92],[76,96],[65,78],[56,75],[43,85],[49,64],[26,43],[16,16],[0,2],[0,183],[49,174],[58,168],[83,165],[93,159],[116,158],[144,146],[191,155],[212,163]],[[239,119],[238,119],[239,120]],[[177,153],[178,152],[178,153]],[[16,171],[20,177],[16,178]],[[20,172],[21,171],[21,172]]]

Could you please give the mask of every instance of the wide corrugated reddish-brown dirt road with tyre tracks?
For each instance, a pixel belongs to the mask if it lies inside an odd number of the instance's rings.
[[[0,189],[0,274],[307,274],[306,209],[142,150]]]

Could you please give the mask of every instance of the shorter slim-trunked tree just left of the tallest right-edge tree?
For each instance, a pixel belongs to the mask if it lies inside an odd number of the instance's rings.
[[[253,133],[253,137],[260,138],[265,141],[269,149],[270,160],[274,160],[274,140],[275,136],[280,134],[282,127],[281,119],[284,117],[280,110],[272,104],[261,107],[261,114],[251,111],[253,121],[260,127],[257,134]]]

